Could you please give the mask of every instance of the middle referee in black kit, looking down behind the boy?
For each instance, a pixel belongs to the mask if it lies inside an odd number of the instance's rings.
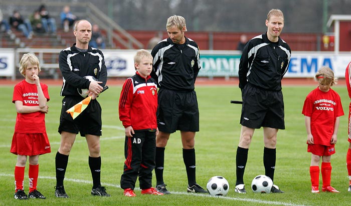
[[[183,159],[188,175],[188,192],[207,193],[196,183],[195,133],[199,131],[199,107],[195,80],[200,70],[198,44],[185,36],[186,20],[179,15],[167,19],[168,38],[161,40],[151,51],[153,71],[158,82],[156,135],[156,189],[170,192],[163,182],[164,149],[170,133],[181,131]]]

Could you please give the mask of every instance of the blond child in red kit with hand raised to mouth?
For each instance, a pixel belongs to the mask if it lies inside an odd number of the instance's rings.
[[[15,199],[46,197],[37,190],[39,155],[51,152],[45,128],[45,113],[48,113],[48,86],[40,83],[39,59],[33,53],[26,53],[20,61],[20,72],[25,77],[17,83],[12,102],[16,105],[17,118],[12,138],[11,152],[17,155],[15,166]],[[25,166],[29,156],[29,193],[24,191]]]

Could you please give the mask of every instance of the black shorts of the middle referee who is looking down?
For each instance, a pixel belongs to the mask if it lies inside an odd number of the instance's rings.
[[[157,93],[158,130],[173,133],[199,131],[199,106],[196,91],[174,91],[160,88]]]

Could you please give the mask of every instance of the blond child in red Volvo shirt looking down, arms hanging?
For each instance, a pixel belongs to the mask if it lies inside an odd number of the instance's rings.
[[[322,191],[339,192],[330,186],[330,157],[335,153],[339,116],[344,113],[339,94],[330,88],[336,80],[334,72],[322,66],[315,74],[315,79],[318,87],[307,95],[302,109],[307,130],[307,151],[311,152],[311,191],[319,193],[319,161],[322,157]]]

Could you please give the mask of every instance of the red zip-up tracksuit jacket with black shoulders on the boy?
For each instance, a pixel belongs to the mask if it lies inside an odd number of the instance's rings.
[[[119,119],[126,128],[133,130],[155,130],[157,128],[157,84],[147,76],[138,72],[127,78],[119,97]]]

